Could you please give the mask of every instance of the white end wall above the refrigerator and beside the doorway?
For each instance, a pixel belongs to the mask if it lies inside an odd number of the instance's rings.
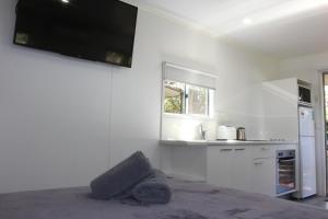
[[[325,195],[325,142],[324,112],[321,91],[321,70],[328,69],[328,53],[295,57],[280,62],[280,78],[295,77],[311,82],[313,88],[315,122],[316,122],[316,155],[318,188]]]

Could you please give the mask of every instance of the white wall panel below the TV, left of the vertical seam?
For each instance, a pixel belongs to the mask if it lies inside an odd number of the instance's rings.
[[[109,165],[110,68],[12,45],[0,1],[0,193],[86,185]]]

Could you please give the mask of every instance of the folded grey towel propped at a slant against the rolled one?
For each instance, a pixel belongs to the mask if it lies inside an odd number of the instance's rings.
[[[149,160],[138,151],[91,182],[91,196],[110,199],[134,187],[152,174]]]

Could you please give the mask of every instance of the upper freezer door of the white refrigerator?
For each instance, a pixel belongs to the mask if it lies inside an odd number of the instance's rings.
[[[300,136],[315,136],[313,108],[300,107],[298,119],[300,119]]]

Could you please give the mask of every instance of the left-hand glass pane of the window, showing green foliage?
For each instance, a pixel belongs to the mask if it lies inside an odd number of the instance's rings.
[[[164,112],[173,114],[185,113],[185,83],[175,81],[164,82]]]

